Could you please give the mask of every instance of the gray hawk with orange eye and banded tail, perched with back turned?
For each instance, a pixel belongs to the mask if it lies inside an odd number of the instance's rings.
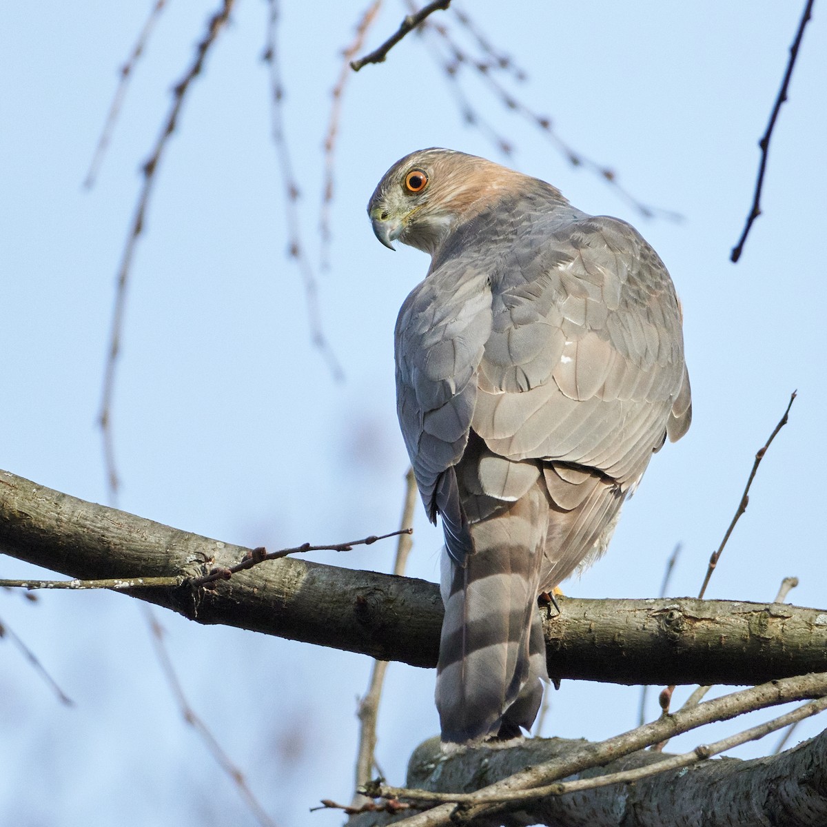
[[[691,419],[681,308],[626,222],[461,152],[394,164],[376,237],[431,256],[396,322],[399,424],[442,518],[442,740],[533,724],[547,681],[538,593],[605,552],[620,506]]]

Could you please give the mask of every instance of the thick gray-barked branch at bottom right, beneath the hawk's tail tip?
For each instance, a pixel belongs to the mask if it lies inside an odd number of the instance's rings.
[[[530,739],[509,749],[478,748],[450,758],[438,739],[420,744],[411,757],[407,786],[472,792],[525,767],[566,759],[582,740]],[[576,777],[595,777],[657,763],[662,753],[633,753]],[[410,811],[399,815],[402,820]],[[387,815],[351,818],[348,827],[378,827]],[[404,823],[404,821],[402,822]],[[510,814],[478,818],[474,827],[824,827],[827,825],[827,733],[777,756],[739,761],[715,758],[663,772],[633,784],[614,784],[564,796],[547,796]]]

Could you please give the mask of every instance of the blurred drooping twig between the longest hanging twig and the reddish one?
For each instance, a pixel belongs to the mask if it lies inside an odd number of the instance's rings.
[[[293,172],[293,161],[290,158],[287,138],[284,135],[284,113],[282,108],[284,84],[281,79],[279,51],[276,45],[280,18],[279,0],[268,0],[268,6],[270,7],[270,14],[267,20],[267,39],[263,57],[270,68],[270,129],[281,166],[281,175],[284,179],[284,217],[287,222],[289,236],[288,255],[299,267],[299,274],[302,278],[302,284],[304,284],[304,299],[308,309],[308,323],[313,346],[324,356],[333,378],[342,381],[344,371],[323,332],[316,275],[313,273],[313,266],[310,264],[302,243],[301,223],[299,222],[297,206],[301,192]]]

